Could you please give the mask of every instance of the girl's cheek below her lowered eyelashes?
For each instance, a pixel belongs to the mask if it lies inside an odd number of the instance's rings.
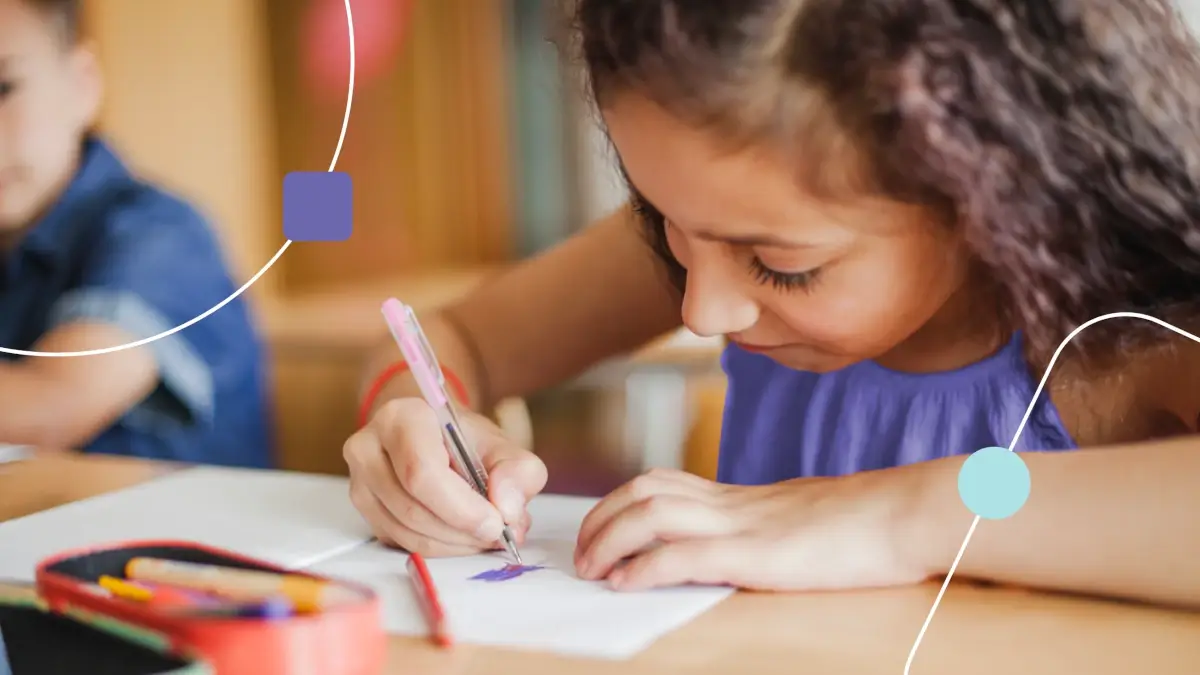
[[[781,325],[814,348],[874,358],[928,322],[962,282],[944,246],[864,251],[824,275],[812,292],[773,303]]]

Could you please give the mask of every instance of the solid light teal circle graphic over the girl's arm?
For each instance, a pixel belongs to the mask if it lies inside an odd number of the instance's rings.
[[[959,497],[971,513],[988,520],[1003,520],[1021,510],[1030,488],[1030,467],[1008,448],[976,450],[959,470]]]

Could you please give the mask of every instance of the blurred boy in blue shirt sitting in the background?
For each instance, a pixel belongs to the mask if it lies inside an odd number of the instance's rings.
[[[101,103],[79,0],[0,0],[0,347],[103,350],[170,330],[235,286],[190,204],[91,132]],[[180,84],[186,85],[186,84]],[[146,345],[0,360],[0,443],[271,464],[244,303]]]

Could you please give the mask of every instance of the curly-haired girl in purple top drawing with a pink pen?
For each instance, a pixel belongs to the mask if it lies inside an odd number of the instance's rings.
[[[680,322],[727,338],[719,482],[614,491],[581,530],[581,577],[944,573],[971,522],[964,455],[1028,414],[1033,494],[960,571],[1200,602],[1194,572],[1153,572],[1195,568],[1170,540],[1195,534],[1200,347],[1099,323],[1034,399],[1081,323],[1196,316],[1200,61],[1166,0],[578,0],[575,19],[631,208],[427,329],[476,410]],[[494,548],[502,520],[523,536],[541,462],[473,418],[492,498],[474,495],[383,364],[346,446],[377,533],[431,555]]]

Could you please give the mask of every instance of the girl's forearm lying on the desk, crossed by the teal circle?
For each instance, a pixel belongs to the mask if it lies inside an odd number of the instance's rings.
[[[1032,490],[1006,520],[980,520],[956,575],[1200,607],[1200,437],[1022,454]],[[906,546],[949,571],[973,519],[958,494],[964,458],[914,466],[920,496]]]

